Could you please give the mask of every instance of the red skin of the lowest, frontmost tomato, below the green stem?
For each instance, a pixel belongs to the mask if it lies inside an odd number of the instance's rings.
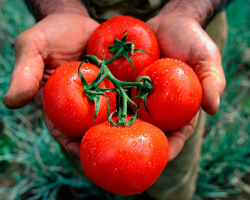
[[[84,172],[102,189],[119,195],[141,193],[151,186],[167,164],[165,134],[140,119],[130,127],[108,121],[89,129],[80,146]]]

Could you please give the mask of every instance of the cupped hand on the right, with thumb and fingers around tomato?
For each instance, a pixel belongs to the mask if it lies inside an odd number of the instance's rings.
[[[182,60],[194,69],[202,85],[202,108],[215,114],[226,84],[216,44],[195,19],[180,13],[160,13],[147,24],[158,39],[162,57]],[[178,155],[193,134],[197,119],[198,114],[180,130],[168,133],[169,160]]]

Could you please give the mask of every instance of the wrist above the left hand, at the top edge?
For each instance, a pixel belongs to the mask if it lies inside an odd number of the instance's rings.
[[[25,0],[37,21],[53,13],[77,13],[89,17],[88,10],[80,0]]]

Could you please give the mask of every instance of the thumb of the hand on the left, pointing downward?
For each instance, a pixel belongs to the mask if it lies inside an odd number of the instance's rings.
[[[28,104],[35,96],[43,76],[46,44],[42,34],[32,29],[20,34],[15,43],[16,61],[11,84],[3,102],[16,109]]]

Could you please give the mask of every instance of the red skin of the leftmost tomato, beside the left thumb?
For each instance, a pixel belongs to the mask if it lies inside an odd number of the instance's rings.
[[[82,137],[92,126],[107,120],[107,99],[100,96],[100,110],[94,120],[95,104],[84,94],[78,75],[80,62],[72,62],[58,67],[50,76],[43,89],[44,109],[55,127],[72,137]],[[83,63],[81,72],[88,83],[97,76],[99,68]],[[113,83],[105,79],[99,87],[114,88]],[[116,95],[111,95],[110,109],[115,110]]]

